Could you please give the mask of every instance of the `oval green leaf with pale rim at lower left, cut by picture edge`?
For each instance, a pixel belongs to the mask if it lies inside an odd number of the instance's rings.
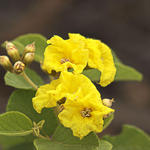
[[[0,135],[24,136],[32,133],[32,121],[20,112],[0,115]]]

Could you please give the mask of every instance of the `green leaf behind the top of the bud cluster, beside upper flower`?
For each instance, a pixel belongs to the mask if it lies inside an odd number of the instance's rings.
[[[40,34],[25,34],[25,35],[21,35],[19,37],[17,37],[16,39],[14,39],[12,42],[17,46],[23,45],[24,47],[28,44],[31,44],[32,42],[35,42],[35,60],[37,62],[43,61],[43,57],[44,57],[44,51],[45,48],[47,46],[46,43],[46,38]],[[22,53],[24,50],[24,48],[20,48],[19,51]]]

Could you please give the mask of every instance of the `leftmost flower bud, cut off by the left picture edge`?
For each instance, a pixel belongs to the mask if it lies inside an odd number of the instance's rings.
[[[0,56],[0,65],[10,72],[13,70],[13,66],[7,56]]]

